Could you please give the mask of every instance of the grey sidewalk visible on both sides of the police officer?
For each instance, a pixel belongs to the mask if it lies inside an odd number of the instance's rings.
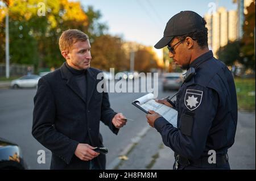
[[[228,154],[231,169],[255,169],[255,112],[238,112],[235,143]],[[107,169],[172,170],[174,164],[174,151],[164,146],[160,134],[149,126],[120,155]]]

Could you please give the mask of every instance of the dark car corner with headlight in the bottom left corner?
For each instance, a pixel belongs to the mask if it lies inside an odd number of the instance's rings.
[[[0,138],[0,170],[27,169],[18,145]]]

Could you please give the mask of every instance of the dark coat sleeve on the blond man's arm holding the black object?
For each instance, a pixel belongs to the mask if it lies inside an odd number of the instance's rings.
[[[34,104],[32,135],[43,146],[68,164],[79,142],[57,132],[54,128],[56,116],[55,98],[51,86],[44,78],[39,79]]]

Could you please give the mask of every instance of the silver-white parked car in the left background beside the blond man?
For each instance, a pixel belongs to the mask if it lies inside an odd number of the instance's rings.
[[[38,86],[38,81],[41,77],[39,75],[24,75],[18,79],[11,81],[11,87],[13,89],[18,89],[21,87],[36,87]]]

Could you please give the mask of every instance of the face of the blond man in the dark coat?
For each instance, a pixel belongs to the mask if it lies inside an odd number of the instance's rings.
[[[90,67],[90,42],[77,41],[73,44],[72,49],[68,53],[69,58],[67,59],[68,65],[77,70],[85,70]]]

